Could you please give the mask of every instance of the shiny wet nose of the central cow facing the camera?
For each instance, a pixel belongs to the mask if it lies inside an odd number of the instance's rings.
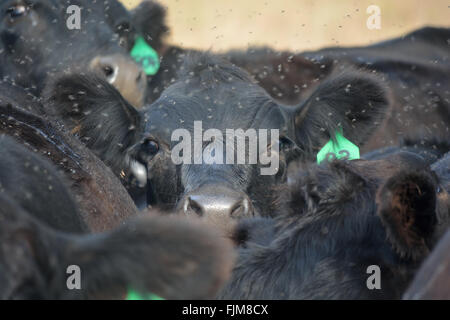
[[[209,220],[240,219],[253,215],[247,195],[222,186],[204,186],[188,193],[182,201],[187,215],[197,215]]]

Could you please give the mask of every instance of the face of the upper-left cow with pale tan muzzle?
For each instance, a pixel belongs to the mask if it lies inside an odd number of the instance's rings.
[[[69,6],[80,8],[80,29],[71,27],[77,12]],[[127,14],[116,1],[2,1],[3,76],[39,93],[55,73],[91,69],[140,107],[146,77],[128,56],[133,36]]]

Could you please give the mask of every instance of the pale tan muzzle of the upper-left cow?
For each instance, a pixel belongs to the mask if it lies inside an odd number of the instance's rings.
[[[136,108],[144,105],[147,77],[131,58],[121,54],[95,57],[90,67],[111,83]]]

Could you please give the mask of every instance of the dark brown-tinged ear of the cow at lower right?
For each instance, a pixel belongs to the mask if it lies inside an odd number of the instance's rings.
[[[437,184],[428,171],[391,177],[377,193],[378,216],[401,257],[424,257],[437,226]]]

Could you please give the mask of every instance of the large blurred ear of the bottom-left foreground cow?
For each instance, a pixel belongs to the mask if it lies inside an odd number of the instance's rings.
[[[82,290],[66,298],[120,298],[127,289],[165,299],[212,298],[233,266],[229,240],[180,217],[140,217],[83,238],[66,252],[82,272]]]

